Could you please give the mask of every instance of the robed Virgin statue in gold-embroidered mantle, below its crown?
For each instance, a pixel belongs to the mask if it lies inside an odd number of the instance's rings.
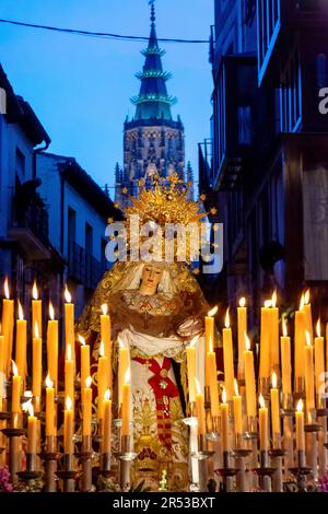
[[[131,433],[137,453],[132,483],[144,480],[147,487],[159,490],[165,471],[169,490],[187,490],[189,441],[183,422],[189,409],[186,346],[199,336],[198,376],[203,382],[203,324],[210,307],[184,262],[116,262],[105,272],[77,326],[77,332],[92,346],[95,385],[103,304],[108,306],[112,323],[117,417],[119,347],[128,348],[130,355]],[[115,437],[113,444],[117,447]]]

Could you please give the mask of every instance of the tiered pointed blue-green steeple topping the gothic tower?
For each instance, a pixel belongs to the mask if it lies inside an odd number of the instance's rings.
[[[131,102],[137,106],[134,119],[160,118],[172,120],[171,106],[176,98],[167,94],[165,82],[172,74],[163,71],[161,49],[155,30],[155,8],[151,7],[151,33],[148,48],[141,51],[145,57],[142,72],[136,74],[141,80],[140,92]]]

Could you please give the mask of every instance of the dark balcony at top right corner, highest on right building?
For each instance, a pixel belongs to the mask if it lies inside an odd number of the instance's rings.
[[[279,85],[280,67],[297,32],[327,33],[326,0],[257,0],[258,82]]]

